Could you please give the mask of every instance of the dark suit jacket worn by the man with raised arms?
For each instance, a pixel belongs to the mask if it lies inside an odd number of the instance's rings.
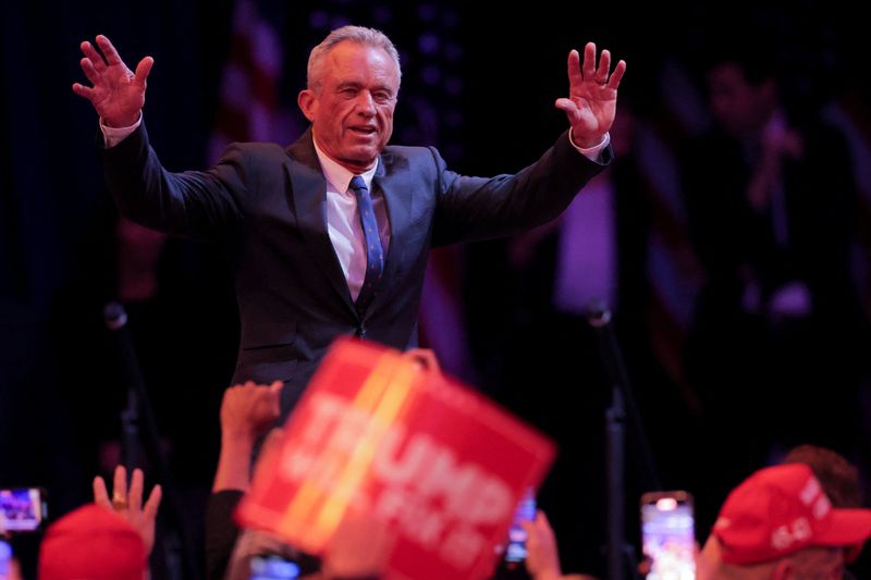
[[[604,163],[611,149],[603,151]],[[121,212],[174,235],[223,239],[241,317],[233,382],[283,380],[293,406],[340,335],[406,349],[431,247],[510,235],[552,220],[604,166],[562,135],[515,175],[458,175],[432,147],[389,146],[372,190],[383,195],[391,243],[383,279],[364,312],[351,298],[327,231],[327,182],[306,132],[295,144],[233,144],[205,172],[163,169],[144,126],[103,151]]]

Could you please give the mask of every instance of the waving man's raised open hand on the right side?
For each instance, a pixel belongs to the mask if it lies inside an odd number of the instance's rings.
[[[611,71],[611,52],[603,50],[596,64],[596,45],[587,42],[584,65],[577,50],[568,53],[568,97],[556,99],[572,125],[572,139],[578,147],[599,145],[614,123],[617,110],[617,87],[626,72],[621,60]]]

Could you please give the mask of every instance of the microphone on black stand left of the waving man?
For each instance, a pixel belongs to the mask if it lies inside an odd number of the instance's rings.
[[[200,575],[195,566],[191,534],[185,529],[182,504],[172,481],[169,461],[160,446],[157,421],[149,403],[139,359],[126,325],[127,312],[120,303],[109,303],[103,308],[103,320],[114,336],[113,343],[121,363],[122,379],[127,387],[126,407],[121,411],[123,431],[121,456],[127,469],[127,481],[130,482],[133,470],[143,465],[142,459],[149,457],[151,465],[157,468],[156,479],[163,488],[163,501],[159,511],[167,515],[170,523],[156,534],[155,544],[162,546],[162,559],[169,580],[195,580]],[[139,429],[140,424],[144,427],[145,436]],[[143,493],[143,496],[145,501],[147,495]],[[155,576],[152,572],[151,578]]]

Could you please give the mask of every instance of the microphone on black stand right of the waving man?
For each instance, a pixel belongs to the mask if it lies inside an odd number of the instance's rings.
[[[633,396],[629,378],[623,362],[623,354],[611,324],[611,309],[603,301],[593,304],[587,313],[587,322],[593,328],[596,342],[604,361],[605,372],[611,382],[611,406],[605,410],[605,470],[608,483],[608,578],[623,580],[626,569],[631,578],[638,578],[638,565],[631,544],[626,542],[625,532],[625,423],[627,412],[635,428],[641,455],[647,470],[660,489],[653,454],[645,437],[641,415]]]

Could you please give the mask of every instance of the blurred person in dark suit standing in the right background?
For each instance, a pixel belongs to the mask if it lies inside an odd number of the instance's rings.
[[[708,521],[745,473],[796,444],[859,451],[869,347],[849,267],[857,187],[846,141],[789,99],[771,39],[748,35],[703,51],[713,125],[680,158],[704,270],[686,374],[711,459],[701,471],[721,486],[697,506]],[[817,387],[796,396],[796,384]]]

